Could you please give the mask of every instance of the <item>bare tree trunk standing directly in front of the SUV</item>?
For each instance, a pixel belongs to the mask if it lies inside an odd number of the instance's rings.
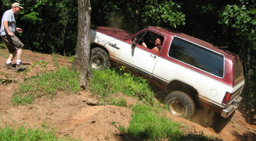
[[[85,88],[92,77],[90,70],[90,0],[78,0],[78,35],[73,68],[79,71],[80,87]]]

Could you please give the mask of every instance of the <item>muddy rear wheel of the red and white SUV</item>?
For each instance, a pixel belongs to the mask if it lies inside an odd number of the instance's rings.
[[[166,96],[164,103],[169,111],[181,118],[190,118],[195,113],[195,103],[190,96],[181,91],[173,91]]]

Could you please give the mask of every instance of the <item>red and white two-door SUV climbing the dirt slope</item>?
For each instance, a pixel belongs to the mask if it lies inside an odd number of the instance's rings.
[[[159,52],[152,50],[157,38]],[[93,69],[126,66],[169,92],[164,103],[183,118],[194,114],[196,104],[228,118],[242,100],[245,83],[238,55],[161,27],[146,27],[135,34],[110,27],[91,29],[90,65]]]

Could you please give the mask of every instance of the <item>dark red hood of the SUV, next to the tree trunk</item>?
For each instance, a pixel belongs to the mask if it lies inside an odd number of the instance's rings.
[[[125,40],[127,39],[128,36],[131,35],[130,32],[127,32],[122,29],[118,28],[111,28],[111,27],[95,27],[92,28],[93,30],[96,30],[97,32],[104,33],[106,35],[113,36],[114,38],[120,39],[120,40]]]

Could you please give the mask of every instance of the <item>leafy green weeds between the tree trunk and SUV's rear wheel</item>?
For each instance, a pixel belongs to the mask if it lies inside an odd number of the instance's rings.
[[[122,70],[120,69],[121,72],[109,68],[105,71],[93,70],[94,76],[90,81],[91,92],[93,94],[99,93],[102,98],[122,92],[124,95],[150,102],[154,93],[150,91],[146,80],[132,76]]]

